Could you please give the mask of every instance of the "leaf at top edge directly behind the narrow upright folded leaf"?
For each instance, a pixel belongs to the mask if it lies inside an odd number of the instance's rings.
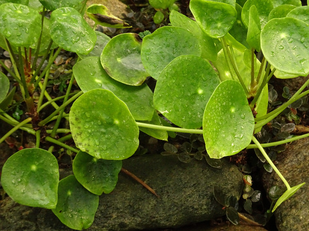
[[[241,12],[241,18],[247,27],[249,26],[249,11],[252,5],[255,5],[258,10],[261,28],[263,28],[268,21],[269,13],[274,8],[273,3],[271,0],[247,0]]]

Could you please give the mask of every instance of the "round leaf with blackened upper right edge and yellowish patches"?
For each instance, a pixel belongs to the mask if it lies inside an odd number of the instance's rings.
[[[142,64],[141,47],[142,40],[138,34],[117,35],[105,46],[101,64],[115,80],[139,86],[149,76]]]

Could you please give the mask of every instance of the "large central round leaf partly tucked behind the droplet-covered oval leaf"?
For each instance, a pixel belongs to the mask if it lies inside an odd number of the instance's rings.
[[[219,78],[203,58],[183,55],[161,72],[154,89],[154,107],[182,128],[202,126],[203,111]]]

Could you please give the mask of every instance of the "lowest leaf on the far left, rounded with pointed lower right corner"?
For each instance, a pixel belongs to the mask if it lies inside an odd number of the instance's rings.
[[[23,149],[3,165],[1,184],[15,202],[45,209],[57,204],[59,181],[55,156],[42,149]]]

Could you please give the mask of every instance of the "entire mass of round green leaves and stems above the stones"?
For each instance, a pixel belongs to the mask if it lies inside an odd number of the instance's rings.
[[[86,11],[96,24],[130,27],[104,5],[5,2],[0,2],[0,46],[9,53],[12,69],[0,63],[6,73],[0,73],[0,119],[13,128],[0,142],[18,129],[36,137],[35,148],[20,150],[3,165],[1,184],[14,201],[51,209],[72,229],[89,228],[99,195],[114,189],[122,160],[137,151],[140,130],[165,141],[168,132],[201,134],[212,159],[259,149],[287,188],[272,212],[304,185],[290,186],[263,147],[308,134],[269,144],[255,137],[309,93],[304,91],[308,80],[286,103],[267,111],[267,83],[273,75],[309,74],[309,8],[301,1],[191,0],[195,21],[172,10],[170,26],[112,39],[81,16]],[[52,99],[46,84],[62,49],[79,58],[66,94]],[[149,77],[156,80],[154,92],[145,82]],[[71,90],[75,80],[81,90]],[[6,113],[16,90],[27,108],[23,121]],[[35,92],[40,93],[37,101]],[[43,113],[50,104],[54,111]],[[61,120],[70,127],[60,127]],[[76,147],[64,144],[70,139]],[[54,147],[40,149],[42,141],[77,153],[74,175],[59,181]]]

